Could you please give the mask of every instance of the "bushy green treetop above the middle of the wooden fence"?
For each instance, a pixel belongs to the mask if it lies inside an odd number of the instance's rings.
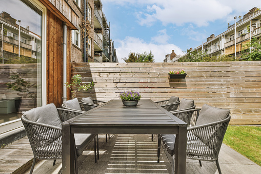
[[[122,60],[124,60],[127,63],[130,63],[130,62],[155,62],[152,51],[150,51],[149,54],[146,51],[141,54],[130,52],[128,55],[128,58],[125,57]]]

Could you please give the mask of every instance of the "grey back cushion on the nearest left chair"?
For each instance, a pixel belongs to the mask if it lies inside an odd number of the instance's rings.
[[[24,117],[30,121],[62,128],[62,122],[59,118],[58,111],[53,103],[33,108],[22,113],[24,114]]]

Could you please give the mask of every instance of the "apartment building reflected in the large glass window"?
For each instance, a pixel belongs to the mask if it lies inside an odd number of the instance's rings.
[[[23,22],[16,22],[5,11],[0,15],[0,58],[2,64],[5,59],[21,56],[32,57],[36,60],[37,55],[42,52],[39,44],[42,40],[41,36],[30,31],[29,26],[24,28],[21,24]]]

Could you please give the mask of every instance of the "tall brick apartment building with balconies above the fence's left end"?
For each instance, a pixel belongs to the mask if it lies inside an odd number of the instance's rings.
[[[72,31],[72,61],[115,62],[112,61],[111,54],[116,55],[116,51],[114,47],[111,49],[110,26],[103,13],[102,2],[100,0],[73,0],[73,3],[77,7],[74,10],[81,11],[78,13],[81,20],[79,20],[80,29]],[[85,16],[86,22],[84,22]]]

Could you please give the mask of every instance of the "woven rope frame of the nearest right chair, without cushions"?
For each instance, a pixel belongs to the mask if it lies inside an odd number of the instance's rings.
[[[187,159],[198,160],[200,166],[202,166],[201,161],[215,161],[218,173],[221,174],[218,163],[218,154],[231,117],[230,114],[227,114],[227,117],[223,120],[196,126],[200,110],[201,109],[191,109],[174,113],[177,118],[188,124]],[[158,162],[160,140],[163,142],[167,152],[170,153],[173,158],[175,155],[175,135],[159,136]]]

